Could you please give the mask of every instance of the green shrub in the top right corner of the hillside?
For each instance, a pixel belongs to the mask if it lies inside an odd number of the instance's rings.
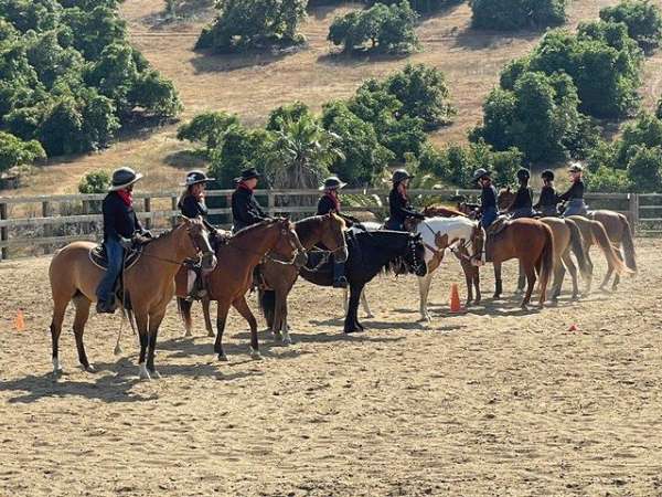
[[[660,46],[662,10],[649,0],[623,0],[617,6],[606,7],[600,10],[600,19],[624,23],[630,38],[647,52]]]

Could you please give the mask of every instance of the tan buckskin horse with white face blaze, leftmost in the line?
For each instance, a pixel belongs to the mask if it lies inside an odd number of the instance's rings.
[[[83,368],[93,371],[83,345],[83,331],[89,316],[89,306],[96,302],[96,288],[104,276],[104,269],[97,267],[89,258],[89,251],[95,245],[89,242],[74,242],[62,248],[51,261],[49,275],[53,293],[53,320],[51,336],[53,338],[53,372],[58,374],[62,367],[58,359],[57,345],[62,332],[64,311],[71,300],[76,306],[74,317],[74,336],[78,349],[78,360]],[[174,275],[184,260],[199,253],[207,255],[203,258],[205,267],[216,263],[209,242],[209,233],[200,219],[183,218],[182,223],[170,232],[151,241],[142,250],[140,258],[124,273],[125,299],[121,303],[134,319],[140,336],[140,378],[149,380],[158,378],[154,369],[154,349],[157,334],[166,315],[168,303],[174,295]],[[146,364],[147,355],[147,364]]]

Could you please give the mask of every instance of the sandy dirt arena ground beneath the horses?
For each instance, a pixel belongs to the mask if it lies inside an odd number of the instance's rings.
[[[113,355],[119,319],[105,316],[86,334],[99,371],[77,368],[68,331],[54,382],[50,258],[2,262],[0,495],[662,495],[661,250],[639,240],[642,271],[616,295],[527,314],[488,298],[449,316],[462,282],[450,260],[431,324],[416,322],[414,277],[381,278],[371,329],[352,337],[338,292],[298,284],[296,343],[263,334],[263,361],[236,314],[218,363],[200,322],[182,337],[173,306],[151,382],[130,332]]]

